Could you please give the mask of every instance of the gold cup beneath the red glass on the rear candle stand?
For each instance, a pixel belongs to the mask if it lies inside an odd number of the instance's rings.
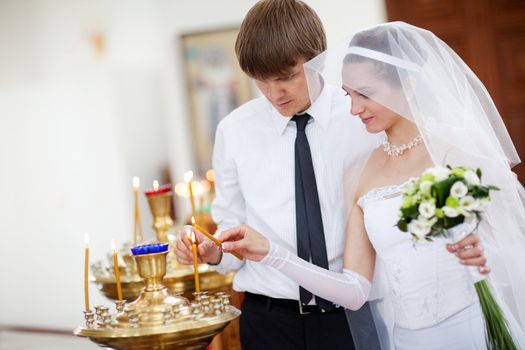
[[[173,226],[171,206],[173,193],[171,191],[147,196],[149,208],[153,215],[153,229],[157,233],[158,242],[168,242],[168,232]]]

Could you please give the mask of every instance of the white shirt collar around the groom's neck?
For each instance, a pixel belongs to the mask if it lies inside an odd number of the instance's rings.
[[[312,103],[312,105],[305,111],[308,113],[316,123],[319,123],[321,127],[326,127],[330,118],[330,109],[331,109],[331,93],[328,87],[325,85],[319,94],[319,97]],[[273,107],[270,102],[268,102],[271,108],[271,115],[273,125],[275,130],[282,135],[288,123],[292,122],[291,117],[286,117],[280,114],[275,107]]]

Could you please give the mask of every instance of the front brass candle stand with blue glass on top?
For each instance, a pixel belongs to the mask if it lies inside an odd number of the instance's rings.
[[[139,297],[117,302],[115,313],[95,306],[75,335],[112,349],[204,349],[240,311],[225,293],[194,293],[191,302],[170,293],[163,281],[166,257],[167,251],[134,255],[143,280]]]

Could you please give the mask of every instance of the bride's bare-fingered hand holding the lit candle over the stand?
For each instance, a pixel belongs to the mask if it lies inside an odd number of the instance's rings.
[[[218,238],[224,252],[235,251],[253,261],[261,261],[270,250],[268,239],[247,225],[223,231]]]

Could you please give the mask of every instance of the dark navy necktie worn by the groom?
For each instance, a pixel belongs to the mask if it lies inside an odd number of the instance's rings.
[[[314,166],[310,145],[306,137],[306,124],[310,115],[301,114],[292,118],[297,125],[295,138],[295,214],[297,227],[297,255],[315,265],[328,269],[326,243],[324,239],[321,205],[315,182]],[[312,293],[300,287],[301,303],[306,305],[312,300]],[[320,297],[315,298],[317,305],[330,309],[333,304]]]

